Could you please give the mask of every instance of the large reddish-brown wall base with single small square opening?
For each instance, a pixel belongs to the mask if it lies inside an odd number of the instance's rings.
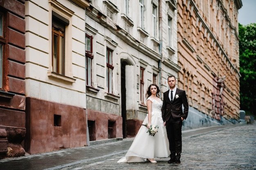
[[[26,98],[25,150],[29,154],[87,145],[84,108]]]

